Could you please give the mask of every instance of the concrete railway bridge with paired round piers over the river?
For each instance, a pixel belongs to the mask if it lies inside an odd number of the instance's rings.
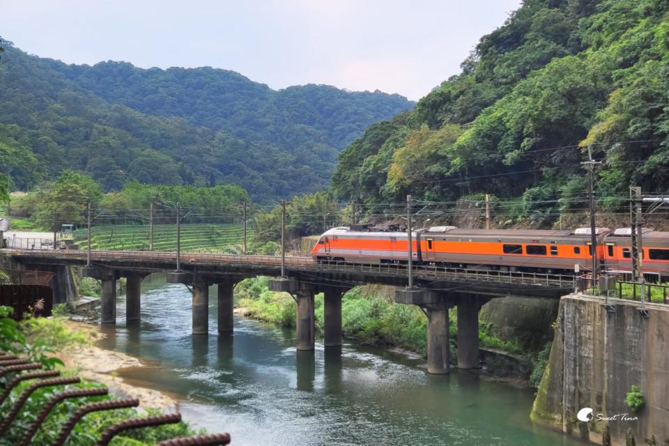
[[[449,371],[448,311],[457,309],[457,365],[479,366],[478,313],[493,298],[509,295],[559,298],[574,290],[574,277],[528,272],[413,266],[408,285],[406,266],[319,263],[311,257],[286,256],[282,276],[280,256],[180,254],[146,251],[5,249],[15,266],[26,269],[77,266],[83,276],[102,283],[101,323],[116,323],[116,280],[125,277],[126,318],[139,320],[141,280],[167,272],[167,281],[192,291],[192,333],[208,333],[209,286],[217,284],[218,332],[233,330],[233,289],[257,275],[280,277],[270,281],[272,291],[291,293],[298,305],[297,348],[314,349],[314,295],[324,293],[324,343],[341,346],[341,296],[353,286],[397,286],[395,301],[417,305],[428,318],[428,371]],[[405,287],[401,289],[401,287]]]

